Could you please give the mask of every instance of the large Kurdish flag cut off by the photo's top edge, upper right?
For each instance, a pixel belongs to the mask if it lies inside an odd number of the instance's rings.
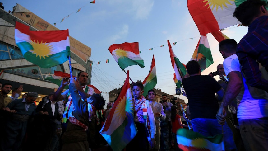
[[[200,35],[241,24],[233,12],[246,0],[188,0],[188,10]],[[267,1],[266,1],[267,2]]]

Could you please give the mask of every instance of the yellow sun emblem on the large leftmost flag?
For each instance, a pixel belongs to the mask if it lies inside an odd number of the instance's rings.
[[[33,46],[33,54],[36,54],[36,57],[39,56],[40,59],[43,57],[49,57],[51,55],[53,47],[49,46],[46,42],[43,43],[43,41],[39,42],[38,40],[35,42],[35,40],[31,40],[30,44]]]

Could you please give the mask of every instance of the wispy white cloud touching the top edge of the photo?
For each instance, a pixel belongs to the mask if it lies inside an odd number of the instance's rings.
[[[153,0],[135,0],[132,1],[133,10],[135,11],[136,19],[147,19],[152,7],[154,6]]]

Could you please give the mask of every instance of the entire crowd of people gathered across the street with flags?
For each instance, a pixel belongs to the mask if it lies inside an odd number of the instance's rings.
[[[1,4],[2,6],[2,4]],[[224,134],[226,151],[265,151],[268,144],[268,11],[267,3],[247,0],[233,13],[248,33],[237,43],[219,43],[224,58],[217,66],[220,80],[201,75],[197,61],[186,65],[183,94],[188,98],[186,114],[180,102],[168,102],[167,95],[155,101],[143,84],[132,83],[136,136],[124,150],[181,150],[176,132],[186,128],[205,137]],[[2,7],[1,7],[2,8]],[[86,85],[88,73],[65,77],[56,92],[39,104],[36,92],[20,97],[22,86],[0,82],[1,149],[9,150],[98,150],[107,142],[99,134],[113,106]],[[69,89],[63,92],[66,85]],[[12,96],[7,94],[12,90]],[[112,150],[108,147],[108,150]]]

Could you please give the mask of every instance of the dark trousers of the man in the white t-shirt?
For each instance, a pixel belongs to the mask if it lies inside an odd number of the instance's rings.
[[[238,123],[247,151],[268,151],[268,117],[238,119]]]

